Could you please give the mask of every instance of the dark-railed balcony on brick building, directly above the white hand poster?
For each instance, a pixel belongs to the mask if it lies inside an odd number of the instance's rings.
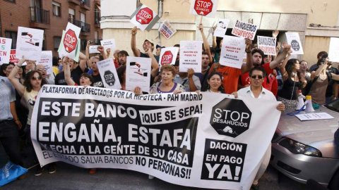
[[[36,6],[30,7],[30,27],[50,29],[49,11]]]

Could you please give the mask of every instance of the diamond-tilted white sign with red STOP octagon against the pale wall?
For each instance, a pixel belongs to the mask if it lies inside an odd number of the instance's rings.
[[[131,15],[130,22],[141,30],[147,30],[148,32],[159,20],[159,16],[148,6],[140,6]]]

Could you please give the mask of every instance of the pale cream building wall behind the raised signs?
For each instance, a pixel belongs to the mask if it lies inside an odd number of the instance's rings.
[[[177,30],[167,40],[162,37],[155,25],[150,32],[138,31],[137,46],[142,50],[145,38],[153,39],[156,44],[173,46],[181,40],[201,40],[198,31],[200,16],[189,14],[190,0],[111,0],[102,1],[101,27],[104,39],[114,38],[119,49],[131,53],[131,28],[129,16],[140,4],[145,4],[161,15],[160,20],[169,20]],[[236,1],[220,0],[216,18],[203,18],[205,34],[212,44],[212,27],[218,18],[230,19],[226,34],[231,34],[237,20],[258,25],[259,35],[270,36],[272,31],[280,30],[278,40],[285,42],[285,32],[298,32],[303,43],[304,55],[298,58],[316,63],[319,51],[328,51],[331,37],[339,37],[339,1]],[[254,40],[256,43],[256,39]]]

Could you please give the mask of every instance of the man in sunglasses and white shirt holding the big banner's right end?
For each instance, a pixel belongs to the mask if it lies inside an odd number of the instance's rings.
[[[263,87],[263,81],[266,77],[266,71],[263,67],[254,67],[249,70],[249,80],[251,84],[249,87],[244,87],[243,89],[239,89],[238,91],[234,91],[232,95],[237,99],[238,96],[250,97],[254,99],[264,99],[268,101],[277,101],[275,99],[274,94],[265,89]],[[277,110],[284,111],[285,104],[278,103]],[[263,155],[263,161],[259,167],[258,172],[256,173],[256,177],[254,178],[254,182],[251,186],[251,189],[259,189],[258,180],[261,178],[263,173],[265,172],[268,163],[270,162],[270,146],[268,146],[266,153]]]

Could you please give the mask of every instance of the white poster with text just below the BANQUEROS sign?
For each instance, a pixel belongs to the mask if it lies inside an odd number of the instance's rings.
[[[231,68],[242,68],[245,49],[246,44],[244,38],[225,36],[222,40],[220,65]]]

